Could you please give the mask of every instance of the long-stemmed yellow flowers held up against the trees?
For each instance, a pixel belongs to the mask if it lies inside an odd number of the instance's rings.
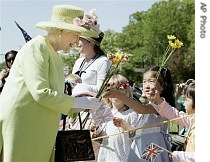
[[[167,35],[167,38],[168,38],[169,44],[164,52],[163,60],[160,65],[160,69],[158,70],[156,81],[159,78],[162,68],[165,66],[166,62],[171,57],[171,55],[176,51],[176,49],[179,49],[183,46],[183,43],[181,41],[179,41],[179,39],[177,39],[174,35]],[[155,81],[155,83],[156,83],[156,81]]]

